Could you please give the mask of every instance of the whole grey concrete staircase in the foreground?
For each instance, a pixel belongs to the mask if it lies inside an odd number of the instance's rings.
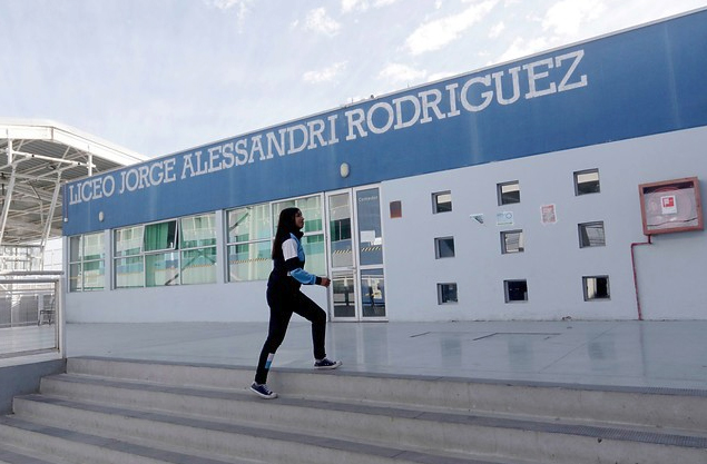
[[[707,463],[707,389],[276,368],[266,401],[253,374],[69,358],[0,416],[0,463]]]

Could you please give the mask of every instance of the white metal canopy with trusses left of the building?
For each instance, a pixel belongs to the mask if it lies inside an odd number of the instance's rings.
[[[48,120],[0,118],[0,254],[61,235],[61,185],[148,157]]]

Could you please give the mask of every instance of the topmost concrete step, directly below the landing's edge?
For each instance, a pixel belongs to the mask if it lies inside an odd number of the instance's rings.
[[[102,377],[242,389],[253,367],[190,365],[78,357],[67,372]],[[278,393],[412,404],[456,411],[609,422],[707,432],[707,388],[656,388],[550,384],[522,381],[316,372],[278,368],[268,386]]]

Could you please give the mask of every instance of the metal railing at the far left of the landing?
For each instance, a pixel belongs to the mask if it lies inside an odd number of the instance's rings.
[[[0,361],[65,355],[60,272],[0,273]]]

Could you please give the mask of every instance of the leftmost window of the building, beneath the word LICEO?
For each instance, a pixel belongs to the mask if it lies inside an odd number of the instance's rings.
[[[106,256],[104,233],[69,238],[69,292],[102,290]]]

